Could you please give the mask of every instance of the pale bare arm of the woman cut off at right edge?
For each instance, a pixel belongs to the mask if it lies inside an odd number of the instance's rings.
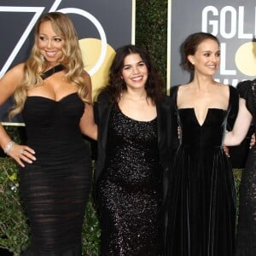
[[[243,98],[239,99],[239,110],[236,117],[236,122],[233,130],[227,132],[224,138],[224,145],[236,146],[246,137],[247,131],[251,125],[253,116],[247,110],[246,101]]]

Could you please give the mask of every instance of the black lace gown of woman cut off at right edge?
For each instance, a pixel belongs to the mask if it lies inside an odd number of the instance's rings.
[[[241,98],[246,100],[256,127],[256,79],[237,85]],[[256,255],[256,147],[249,151],[242,172],[239,198],[239,220],[236,237],[236,256]]]

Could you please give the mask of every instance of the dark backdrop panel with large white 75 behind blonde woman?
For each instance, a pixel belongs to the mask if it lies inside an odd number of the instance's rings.
[[[108,81],[114,50],[134,44],[135,0],[0,0],[0,78],[9,68],[25,61],[32,48],[33,27],[40,15],[67,14],[79,34],[85,69],[90,73],[93,94]],[[22,125],[20,116],[9,121],[11,99],[0,108],[3,125]]]

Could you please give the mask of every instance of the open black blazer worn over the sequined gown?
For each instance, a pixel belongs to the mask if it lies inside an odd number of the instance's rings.
[[[97,160],[94,173],[94,183],[96,183],[102,174],[105,164],[106,146],[108,140],[108,121],[113,102],[110,101],[106,93],[98,96],[94,104],[94,116],[98,126],[97,139]],[[160,163],[163,167],[163,202],[166,203],[166,194],[168,189],[168,177],[172,166],[172,100],[169,96],[163,96],[156,105],[157,126],[158,126],[158,147],[160,154]],[[177,133],[177,131],[176,131]],[[96,191],[95,191],[96,192]]]

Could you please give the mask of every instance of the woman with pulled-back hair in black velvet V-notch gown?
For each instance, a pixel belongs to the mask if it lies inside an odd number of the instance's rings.
[[[213,79],[220,62],[218,38],[192,34],[183,55],[194,78],[171,90],[181,137],[171,172],[166,255],[232,256],[236,190],[223,141],[238,93]]]

